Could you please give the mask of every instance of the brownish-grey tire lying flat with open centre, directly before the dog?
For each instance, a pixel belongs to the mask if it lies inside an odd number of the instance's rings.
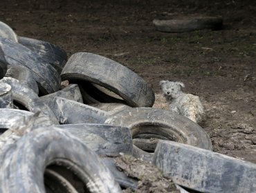
[[[190,119],[167,110],[131,108],[110,115],[104,123],[129,128],[133,138],[138,134],[156,134],[171,141],[212,150],[210,137],[203,128]],[[151,162],[153,154],[139,150],[134,145],[134,156]]]

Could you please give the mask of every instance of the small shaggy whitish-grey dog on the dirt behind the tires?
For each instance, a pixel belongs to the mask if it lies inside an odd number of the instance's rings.
[[[170,103],[170,110],[178,112],[196,123],[202,120],[204,112],[199,96],[183,93],[182,88],[185,87],[183,83],[160,81],[160,86],[166,101]]]

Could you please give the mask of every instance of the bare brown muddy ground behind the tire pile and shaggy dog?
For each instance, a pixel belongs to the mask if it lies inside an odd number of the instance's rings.
[[[182,81],[199,95],[202,128],[214,152],[256,163],[255,1],[3,0],[0,21],[19,36],[42,39],[68,53],[92,52],[143,77],[161,98],[161,80]],[[223,17],[223,29],[158,32],[153,19],[172,14]]]

